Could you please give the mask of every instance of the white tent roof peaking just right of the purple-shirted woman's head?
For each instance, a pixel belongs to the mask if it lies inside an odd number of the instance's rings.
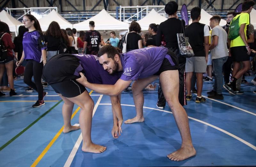
[[[52,12],[50,12],[43,18],[39,19],[38,21],[39,21],[42,31],[46,31],[52,21],[56,21],[57,23],[59,23],[60,28],[63,28],[63,29],[66,29],[66,28],[72,29],[73,28],[73,25],[70,22],[68,22],[66,19],[64,19],[55,10],[52,10]]]

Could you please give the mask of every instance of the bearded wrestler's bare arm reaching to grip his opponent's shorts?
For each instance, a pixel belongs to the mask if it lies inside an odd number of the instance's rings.
[[[105,84],[96,84],[96,83],[89,83],[84,76],[83,73],[79,73],[81,78],[76,79],[77,82],[84,85],[91,90],[94,90],[98,93],[109,95],[109,96],[117,96],[120,94],[126,87],[132,83],[131,81],[124,81],[122,79],[118,79],[114,85],[105,85]]]

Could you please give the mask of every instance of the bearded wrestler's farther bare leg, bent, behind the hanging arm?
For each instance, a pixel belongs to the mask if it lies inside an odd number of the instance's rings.
[[[151,82],[156,80],[158,76],[150,76],[148,78],[138,79],[132,84],[132,95],[133,101],[136,108],[136,116],[132,119],[124,121],[124,123],[135,123],[135,122],[144,122],[143,117],[143,104],[144,96],[142,90]]]

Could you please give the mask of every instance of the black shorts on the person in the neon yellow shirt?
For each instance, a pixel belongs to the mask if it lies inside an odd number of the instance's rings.
[[[247,49],[245,46],[236,46],[230,48],[230,53],[233,61],[250,61],[250,55],[247,54]]]

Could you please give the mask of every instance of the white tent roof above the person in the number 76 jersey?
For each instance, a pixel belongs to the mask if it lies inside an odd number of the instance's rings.
[[[129,28],[128,23],[116,20],[114,17],[108,14],[108,12],[105,9],[102,9],[100,13],[98,13],[97,15],[93,16],[88,20],[74,24],[73,27],[76,28],[77,31],[90,30],[90,21],[94,21],[95,30],[124,30]]]

